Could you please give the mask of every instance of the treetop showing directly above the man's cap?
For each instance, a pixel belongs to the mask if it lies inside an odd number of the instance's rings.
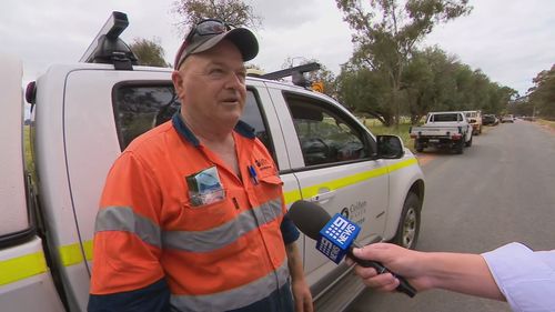
[[[179,22],[182,33],[206,18],[254,29],[262,23],[262,18],[254,14],[253,8],[241,0],[175,0],[173,12],[182,19]]]

